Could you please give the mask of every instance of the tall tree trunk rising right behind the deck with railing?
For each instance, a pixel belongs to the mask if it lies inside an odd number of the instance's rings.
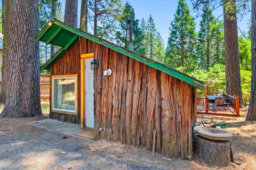
[[[226,92],[240,98],[240,107],[243,107],[243,97],[240,78],[240,66],[238,55],[237,19],[235,12],[226,12],[227,2],[236,9],[235,0],[223,0],[224,36],[225,36],[225,60],[226,60]],[[230,4],[229,4],[230,5]],[[229,6],[230,7],[230,6]],[[228,10],[230,11],[230,10]]]

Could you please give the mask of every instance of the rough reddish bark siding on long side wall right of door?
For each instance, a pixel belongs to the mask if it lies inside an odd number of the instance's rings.
[[[196,89],[153,67],[79,38],[81,54],[94,53],[95,139],[153,147],[167,156],[192,157]],[[111,68],[113,74],[103,76]],[[101,129],[101,131],[100,131]]]

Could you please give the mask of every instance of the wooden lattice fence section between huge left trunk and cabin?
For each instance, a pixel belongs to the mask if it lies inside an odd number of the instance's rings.
[[[40,94],[41,102],[50,101],[50,74],[40,74]]]

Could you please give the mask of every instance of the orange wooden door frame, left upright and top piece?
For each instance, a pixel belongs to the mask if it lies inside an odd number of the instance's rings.
[[[84,95],[84,91],[85,91],[85,73],[84,73],[84,60],[87,58],[94,58],[94,53],[88,53],[88,54],[81,54],[81,128],[85,128],[85,95]]]

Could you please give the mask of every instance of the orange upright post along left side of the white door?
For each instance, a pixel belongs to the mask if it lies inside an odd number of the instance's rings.
[[[81,62],[81,128],[85,128],[84,124],[84,118],[85,118],[85,112],[84,112],[84,59],[80,60]]]

